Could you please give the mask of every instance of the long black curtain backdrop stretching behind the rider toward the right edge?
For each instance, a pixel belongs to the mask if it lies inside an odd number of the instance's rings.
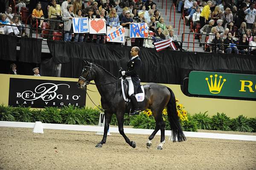
[[[61,77],[78,78],[83,60],[97,63],[119,77],[119,67],[126,69],[131,47],[117,45],[48,41],[53,60],[62,63]],[[189,72],[209,71],[256,75],[256,56],[180,52],[141,48],[142,82],[182,84]]]

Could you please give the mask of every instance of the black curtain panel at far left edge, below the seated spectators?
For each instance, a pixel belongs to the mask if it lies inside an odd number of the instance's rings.
[[[0,34],[0,60],[16,61],[17,37]]]

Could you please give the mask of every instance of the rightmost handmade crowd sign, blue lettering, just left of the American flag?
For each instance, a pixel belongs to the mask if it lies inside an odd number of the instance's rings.
[[[148,24],[147,23],[131,23],[130,38],[147,38]]]

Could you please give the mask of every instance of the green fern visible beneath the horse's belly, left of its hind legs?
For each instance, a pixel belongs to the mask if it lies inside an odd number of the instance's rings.
[[[154,129],[156,126],[156,122],[153,116],[140,114],[131,120],[131,125],[134,128],[138,128],[138,129]]]

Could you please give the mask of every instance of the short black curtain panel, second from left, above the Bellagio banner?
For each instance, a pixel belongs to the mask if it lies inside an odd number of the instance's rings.
[[[42,39],[20,38],[19,61],[41,63]]]

